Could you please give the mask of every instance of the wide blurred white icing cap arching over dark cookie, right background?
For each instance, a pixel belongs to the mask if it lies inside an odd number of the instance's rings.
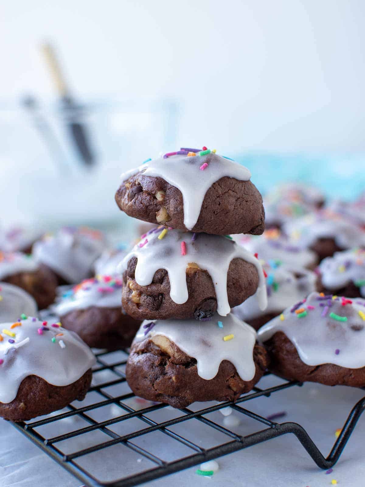
[[[329,210],[320,210],[287,223],[283,230],[301,246],[310,247],[321,238],[333,238],[343,248],[365,245],[365,231]]]

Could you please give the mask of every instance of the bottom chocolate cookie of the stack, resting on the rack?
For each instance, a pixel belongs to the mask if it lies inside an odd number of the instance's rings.
[[[233,315],[144,322],[132,344],[126,377],[145,399],[184,408],[195,401],[236,400],[268,365],[255,331]]]

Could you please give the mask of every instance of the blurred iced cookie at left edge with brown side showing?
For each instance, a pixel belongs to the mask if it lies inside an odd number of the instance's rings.
[[[55,300],[57,281],[53,272],[21,252],[0,252],[0,281],[21,287],[47,308]]]

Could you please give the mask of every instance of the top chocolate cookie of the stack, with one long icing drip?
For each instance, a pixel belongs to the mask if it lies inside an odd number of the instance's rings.
[[[115,195],[120,209],[139,220],[193,232],[264,231],[262,197],[248,169],[210,151],[191,157],[180,152],[122,175]]]

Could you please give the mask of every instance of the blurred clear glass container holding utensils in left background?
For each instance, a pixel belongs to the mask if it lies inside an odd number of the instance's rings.
[[[0,104],[0,221],[42,228],[130,225],[114,202],[120,174],[175,147],[174,101]],[[81,127],[81,129],[80,129]],[[87,143],[92,162],[80,152]]]

